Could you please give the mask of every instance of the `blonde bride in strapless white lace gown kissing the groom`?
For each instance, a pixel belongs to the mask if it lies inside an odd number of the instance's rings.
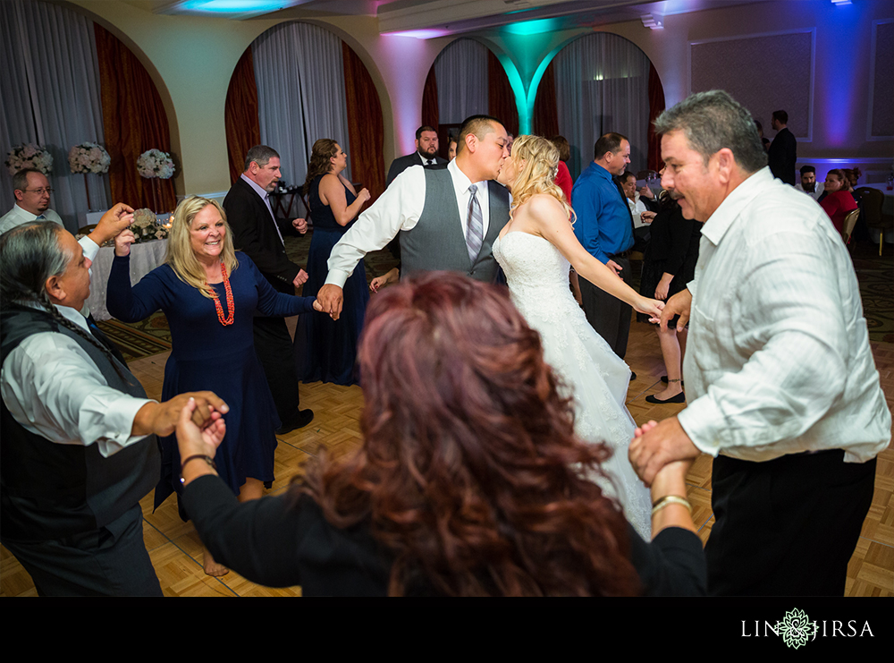
[[[586,321],[569,290],[569,263],[580,276],[634,309],[659,318],[662,302],[636,293],[586,252],[569,220],[574,211],[555,185],[559,150],[539,136],[519,136],[502,166],[500,183],[512,192],[509,223],[493,242],[493,255],[509,282],[512,301],[543,339],[544,359],[574,397],[575,432],[605,442],[611,458],[596,478],[618,498],[628,521],[650,539],[649,490],[628,461],[635,424],[624,400],[630,369]]]

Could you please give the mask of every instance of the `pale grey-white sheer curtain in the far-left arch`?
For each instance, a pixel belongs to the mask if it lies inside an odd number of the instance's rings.
[[[37,29],[39,26],[39,29]],[[56,4],[0,3],[0,150],[36,143],[53,155],[50,207],[76,231],[79,214],[108,208],[108,175],[72,174],[68,150],[104,142],[93,21]],[[136,166],[134,166],[136,167]],[[84,178],[89,178],[90,204]],[[13,178],[0,174],[0,214],[13,207]]]

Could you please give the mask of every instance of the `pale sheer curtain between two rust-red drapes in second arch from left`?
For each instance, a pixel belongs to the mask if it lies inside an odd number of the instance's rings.
[[[331,138],[350,153],[342,39],[291,22],[252,43],[261,142],[280,154],[283,181],[304,184],[314,142]],[[350,179],[349,166],[344,175]]]

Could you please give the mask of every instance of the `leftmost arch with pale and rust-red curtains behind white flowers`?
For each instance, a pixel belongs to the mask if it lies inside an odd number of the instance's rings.
[[[54,157],[51,206],[72,230],[90,208],[125,200],[168,211],[174,181],[139,177],[136,161],[147,149],[175,153],[179,138],[173,103],[156,68],[127,35],[72,3],[4,3],[4,155],[13,145],[43,143]],[[17,30],[39,24],[43,30]],[[30,38],[21,41],[21,34]],[[13,103],[14,100],[14,103]],[[102,144],[107,174],[72,174],[68,151]],[[175,162],[176,163],[176,162]],[[179,166],[179,164],[177,164]],[[180,168],[178,167],[178,171]],[[179,175],[179,172],[177,173]],[[0,198],[12,200],[11,174],[0,177]]]

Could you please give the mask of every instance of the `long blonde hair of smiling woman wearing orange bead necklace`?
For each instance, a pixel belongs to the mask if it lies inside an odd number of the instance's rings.
[[[228,274],[232,274],[239,267],[239,260],[236,259],[236,250],[232,246],[232,231],[230,224],[226,221],[226,212],[216,200],[200,198],[192,196],[181,201],[180,205],[173,213],[173,223],[171,230],[168,232],[168,250],[164,257],[164,262],[168,263],[173,269],[173,273],[186,285],[191,285],[206,296],[208,299],[216,299],[214,288],[208,285],[205,276],[205,268],[196,258],[195,252],[192,251],[192,243],[190,242],[190,228],[196,215],[208,205],[213,205],[220,212],[223,219],[223,227],[226,232],[223,234],[223,251],[221,251],[221,261],[226,266]]]

